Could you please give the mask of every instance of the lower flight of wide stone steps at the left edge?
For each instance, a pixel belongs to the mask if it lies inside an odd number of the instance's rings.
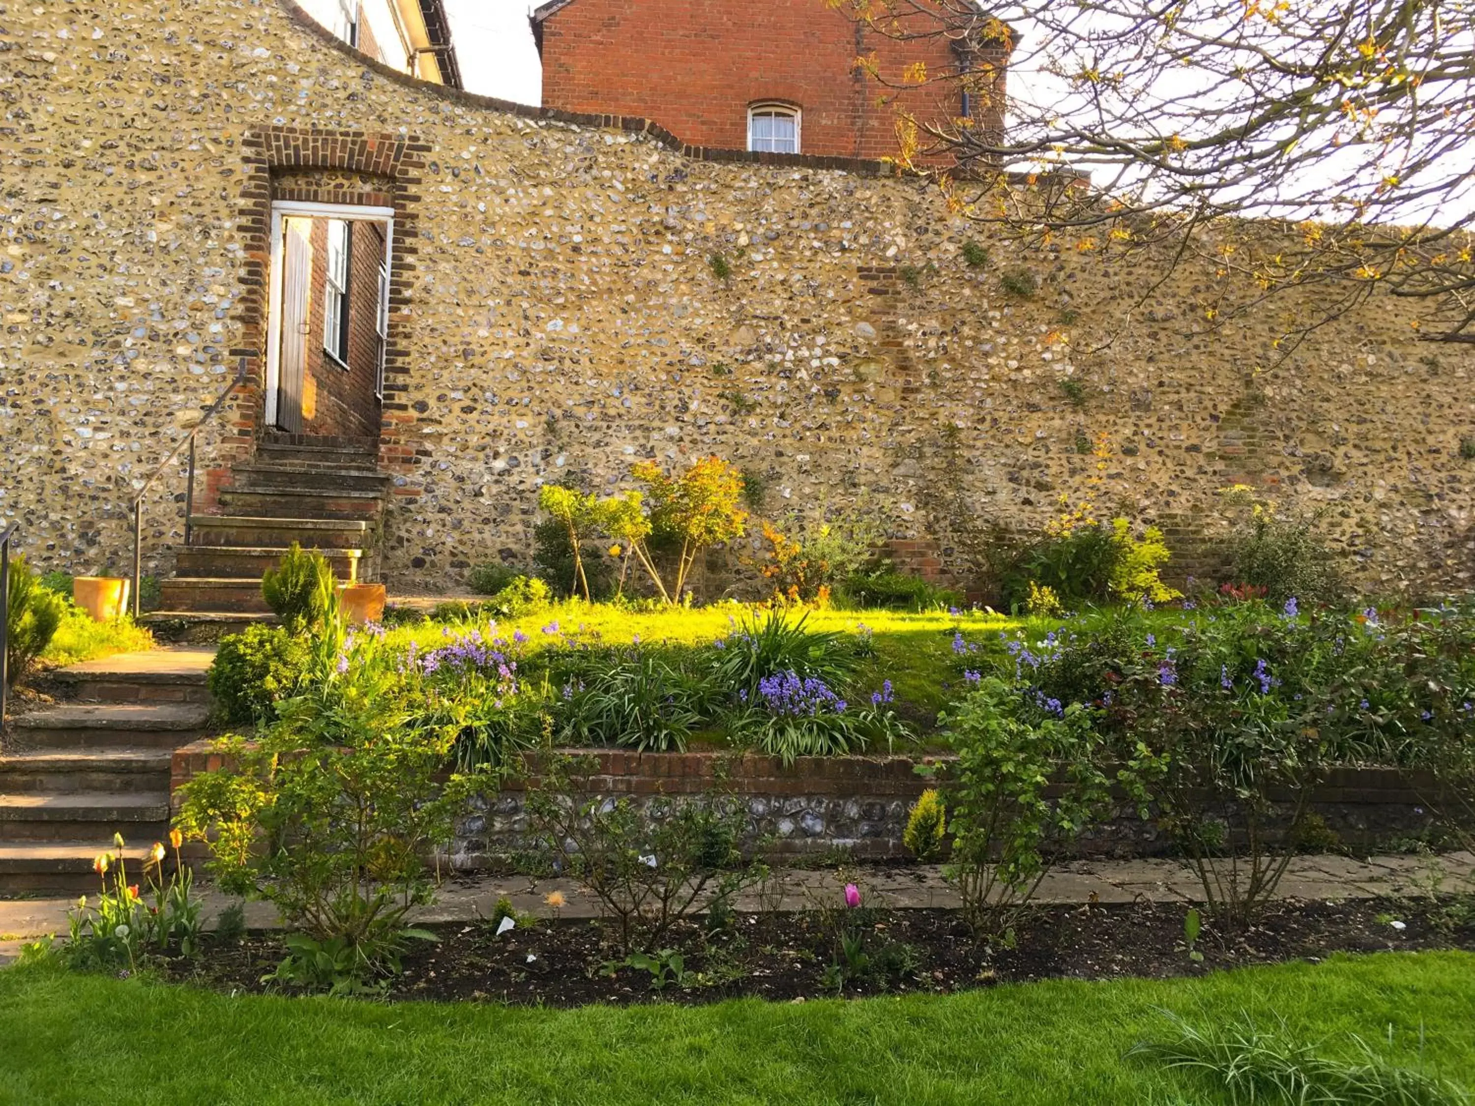
[[[75,698],[10,718],[0,739],[0,895],[96,892],[121,833],[131,872],[168,836],[170,759],[205,736],[211,653],[159,649],[58,675]]]

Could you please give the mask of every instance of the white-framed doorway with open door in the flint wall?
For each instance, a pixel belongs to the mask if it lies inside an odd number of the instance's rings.
[[[268,429],[379,435],[392,242],[392,208],[271,205]]]

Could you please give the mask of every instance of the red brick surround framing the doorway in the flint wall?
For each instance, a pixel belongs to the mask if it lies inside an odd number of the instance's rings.
[[[235,400],[233,437],[223,442],[221,460],[246,460],[263,425],[267,348],[267,291],[271,265],[271,202],[363,204],[394,208],[389,273],[389,333],[385,342],[384,408],[379,467],[410,472],[416,453],[403,431],[414,420],[403,397],[409,386],[407,323],[414,280],[417,237],[414,204],[429,146],[413,136],[358,130],[268,127],[242,137],[240,242],[245,251],[237,321],[242,341],[232,355],[246,369],[246,383]],[[224,473],[220,473],[223,476]],[[217,476],[217,473],[211,473]],[[211,485],[218,485],[217,479]],[[214,490],[214,488],[212,488]]]

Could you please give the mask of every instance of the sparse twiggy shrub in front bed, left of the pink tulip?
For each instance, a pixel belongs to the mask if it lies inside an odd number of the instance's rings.
[[[745,860],[745,808],[721,790],[659,798],[649,811],[596,793],[590,758],[547,754],[528,790],[528,820],[546,867],[593,895],[622,953],[653,948],[704,905],[732,900],[767,869]]]

